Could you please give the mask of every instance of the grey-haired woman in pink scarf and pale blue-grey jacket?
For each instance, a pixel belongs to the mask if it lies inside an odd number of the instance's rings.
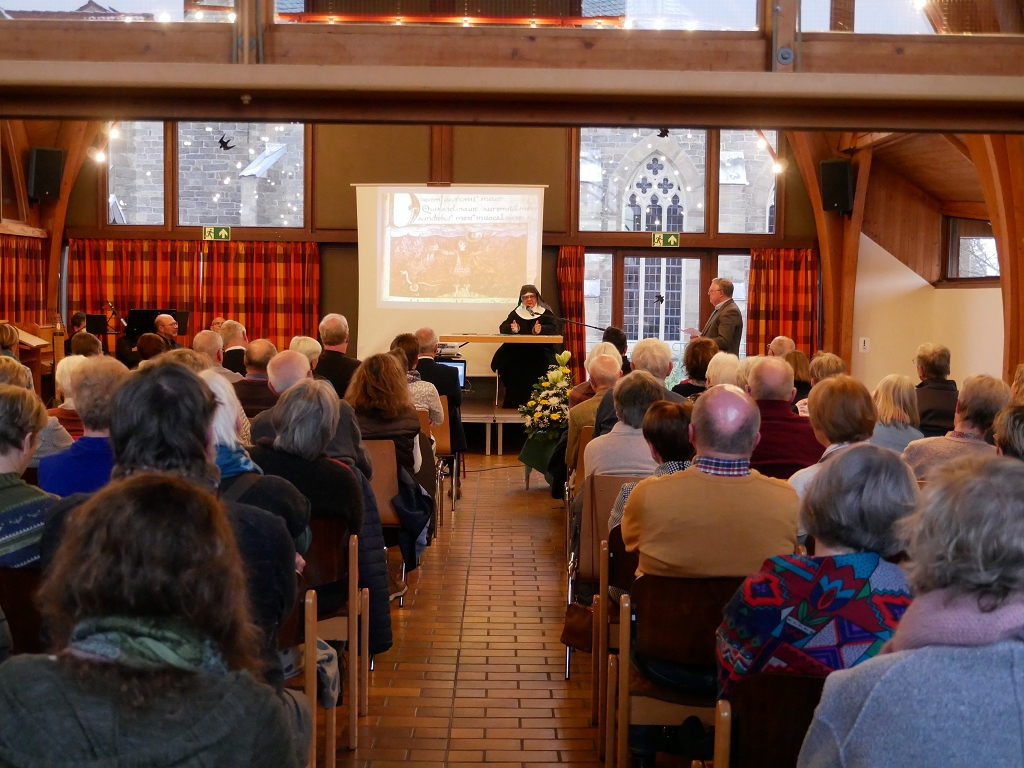
[[[825,681],[798,765],[1024,765],[1024,464],[951,462],[903,530],[913,602]]]

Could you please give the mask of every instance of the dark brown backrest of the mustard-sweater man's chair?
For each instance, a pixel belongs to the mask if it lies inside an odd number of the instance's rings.
[[[742,577],[640,577],[630,589],[633,647],[648,658],[714,667],[715,632],[742,583]]]

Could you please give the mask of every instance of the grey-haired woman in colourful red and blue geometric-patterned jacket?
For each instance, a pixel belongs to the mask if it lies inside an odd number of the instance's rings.
[[[814,556],[765,560],[725,608],[716,637],[722,698],[744,675],[824,677],[879,652],[910,603],[903,571],[885,558],[903,548],[896,525],[916,496],[906,465],[877,445],[824,465],[800,507]]]

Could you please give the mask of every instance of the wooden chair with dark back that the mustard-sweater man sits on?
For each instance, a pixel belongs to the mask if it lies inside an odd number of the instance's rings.
[[[651,682],[630,663],[635,647],[646,658],[714,669],[715,632],[722,609],[742,578],[671,579],[642,575],[620,600],[617,737],[615,759],[629,766],[630,725],[679,725],[696,715],[715,718],[716,691],[683,692]],[[636,628],[634,641],[631,629]],[[610,703],[608,709],[610,710]],[[610,723],[609,723],[610,728]],[[610,761],[611,755],[608,755]]]

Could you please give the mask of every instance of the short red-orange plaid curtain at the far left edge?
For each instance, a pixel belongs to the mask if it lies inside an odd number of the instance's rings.
[[[47,241],[0,234],[0,319],[46,322]]]

